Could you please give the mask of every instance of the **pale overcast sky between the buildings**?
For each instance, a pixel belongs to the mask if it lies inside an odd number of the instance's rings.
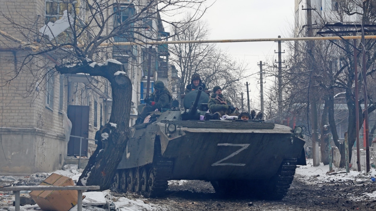
[[[211,8],[203,15],[211,34],[209,39],[250,39],[289,37],[294,23],[294,1],[285,0],[208,0]],[[234,58],[249,63],[249,74],[259,72],[257,63],[274,61],[276,42],[218,43]],[[287,50],[282,43],[282,51]],[[283,60],[284,54],[282,54]],[[271,78],[270,78],[271,79]],[[259,75],[248,80],[252,102],[259,100]],[[265,80],[264,80],[265,82]],[[270,80],[266,80],[270,82]],[[266,84],[265,84],[266,85]],[[265,89],[264,89],[265,90]],[[244,93],[246,86],[244,86]],[[246,96],[246,95],[245,95]],[[245,101],[246,102],[246,101]],[[259,104],[259,103],[257,103]]]

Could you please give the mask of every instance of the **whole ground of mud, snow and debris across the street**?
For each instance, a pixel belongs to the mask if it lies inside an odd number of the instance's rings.
[[[375,169],[370,172],[350,171],[346,173],[343,168],[333,168],[334,172],[326,174],[329,166],[322,163],[314,167],[311,160],[307,160],[307,166],[300,166],[296,169],[293,183],[286,196],[282,200],[268,201],[251,199],[247,197],[218,197],[207,181],[199,180],[171,180],[168,181],[167,196],[161,198],[148,198],[132,193],[116,193],[109,190],[91,191],[83,193],[86,198],[83,200],[85,211],[179,211],[179,210],[298,210],[298,211],[332,211],[332,210],[376,210],[376,184],[374,178]],[[77,165],[76,165],[77,166]],[[59,173],[70,178],[79,178],[80,170],[74,165],[65,166],[65,170]],[[78,173],[77,173],[78,172]],[[42,175],[51,173],[38,173]],[[0,184],[9,185],[13,183],[23,184],[36,180],[37,176],[8,178],[8,182]],[[13,179],[13,180],[12,180]],[[74,179],[73,179],[74,180]],[[39,182],[40,183],[40,182]],[[33,184],[37,185],[37,184]],[[261,190],[262,191],[262,190]],[[5,191],[3,191],[5,192]],[[1,193],[0,193],[1,194]],[[14,195],[4,193],[0,197],[0,209],[14,211],[12,202]],[[26,192],[21,193],[27,196]],[[5,202],[2,202],[4,200]],[[250,202],[252,201],[252,202]],[[33,211],[38,206],[25,205],[21,210]],[[76,211],[74,206],[71,211]]]

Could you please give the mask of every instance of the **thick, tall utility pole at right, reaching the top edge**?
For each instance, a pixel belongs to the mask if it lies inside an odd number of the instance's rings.
[[[312,30],[312,7],[311,7],[311,0],[307,0],[307,36],[312,37],[313,36],[313,30]],[[316,74],[315,71],[315,56],[314,56],[314,41],[308,41],[308,54],[309,54],[309,63],[312,64],[311,66],[311,89],[314,94],[308,95],[308,99],[311,104],[311,125],[312,125],[312,151],[313,151],[313,166],[319,166],[320,165],[320,159],[319,159],[319,151],[318,151],[318,119],[317,119],[317,97],[315,97],[315,80],[312,79],[312,76]],[[308,105],[309,106],[309,105]],[[348,164],[347,164],[348,165]]]

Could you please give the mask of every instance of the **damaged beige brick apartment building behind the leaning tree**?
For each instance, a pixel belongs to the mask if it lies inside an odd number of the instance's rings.
[[[0,175],[51,172],[60,169],[68,156],[90,157],[96,149],[95,133],[111,115],[111,86],[105,78],[85,74],[61,75],[54,69],[59,65],[59,56],[52,53],[41,53],[25,60],[29,51],[39,47],[38,33],[23,34],[15,29],[14,24],[30,26],[40,32],[44,24],[64,18],[64,8],[60,3],[59,0],[0,0],[3,14],[0,16],[0,30],[12,37],[0,36]],[[129,3],[125,0],[124,6]],[[85,14],[88,11],[76,12]],[[132,12],[118,15],[132,15]],[[156,33],[156,38],[167,35],[157,19],[144,21],[144,24],[149,24],[146,27],[149,32],[144,33]],[[63,29],[59,33],[66,31]],[[21,41],[31,43],[32,47],[24,44],[20,47]],[[130,40],[119,36],[114,41]],[[113,58],[122,62],[132,81],[130,125],[134,124],[136,107],[146,93],[145,76],[149,69],[150,92],[160,73],[163,73],[161,77],[166,85],[170,89],[173,86],[170,82],[174,81],[171,79],[173,67],[168,64],[168,50],[159,51],[158,46],[153,46],[152,51],[147,51],[146,46],[115,46],[112,54],[102,55],[104,61]],[[147,65],[149,53],[153,61],[151,67]],[[67,134],[67,117],[72,123],[70,134]],[[77,137],[67,138],[70,135]],[[81,146],[79,137],[87,138],[82,139]]]

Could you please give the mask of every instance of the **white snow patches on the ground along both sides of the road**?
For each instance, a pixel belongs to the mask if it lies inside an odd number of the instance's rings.
[[[350,171],[346,173],[346,169],[337,168],[333,165],[333,173],[327,174],[329,172],[329,165],[313,166],[312,160],[307,160],[307,166],[298,166],[296,169],[295,179],[304,182],[307,185],[318,185],[328,186],[333,185],[335,182],[346,182],[350,185],[359,185],[362,187],[367,187],[367,185],[376,185],[375,182],[371,180],[375,177],[376,170],[371,168],[370,172]],[[77,182],[79,176],[81,175],[82,169],[77,169],[77,165],[65,165],[62,170],[57,170],[53,173],[67,176],[72,178],[74,182]],[[3,180],[15,181],[13,184],[17,185],[37,185],[33,184],[43,181],[51,173],[36,173],[27,177],[13,177],[13,176],[0,176],[0,182]],[[22,178],[22,179],[21,179]],[[37,181],[39,179],[39,181]],[[170,185],[184,185],[187,180],[171,180],[168,181]],[[40,183],[40,182],[39,182]],[[38,184],[39,184],[38,183]],[[110,191],[91,191],[83,193],[85,199],[83,199],[83,205],[86,211],[106,211],[109,205],[111,209],[115,211],[155,211],[155,210],[171,210],[169,205],[156,205],[153,203],[148,203],[146,199],[134,199],[132,197],[114,197],[111,196]],[[354,194],[351,197],[352,200],[376,200],[376,191],[364,194]],[[14,200],[14,198],[13,198]],[[26,205],[21,207],[21,210],[26,208],[30,210],[30,206],[36,205]],[[36,206],[37,207],[37,206]],[[1,207],[0,207],[1,209]],[[14,210],[14,207],[9,208],[10,211]],[[70,211],[77,211],[77,206],[74,206]]]

